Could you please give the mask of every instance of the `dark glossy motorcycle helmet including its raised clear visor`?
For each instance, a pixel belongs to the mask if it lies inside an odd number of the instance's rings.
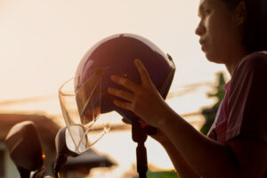
[[[134,83],[141,84],[138,70],[134,66],[135,59],[142,61],[151,81],[165,99],[174,78],[174,63],[155,44],[134,34],[109,36],[94,44],[78,64],[75,77],[61,86],[63,117],[79,152],[90,148],[90,145],[109,130],[105,118],[100,119],[101,114],[115,110],[130,123],[135,118],[142,121],[133,112],[114,105],[116,97],[108,93],[109,87],[126,90],[123,86],[113,83],[110,80],[111,75],[127,77]],[[71,90],[73,91],[70,92]],[[104,124],[101,121],[104,121]],[[76,131],[77,126],[71,125],[82,125],[84,131]],[[92,144],[83,146],[83,140],[91,137],[88,132],[92,130],[101,132],[93,142],[91,141]],[[75,138],[80,138],[80,141],[77,142]]]

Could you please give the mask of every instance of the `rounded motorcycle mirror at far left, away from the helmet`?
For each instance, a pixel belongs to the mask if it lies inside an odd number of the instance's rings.
[[[5,137],[5,144],[21,177],[28,177],[31,171],[44,165],[43,150],[33,122],[13,125]]]

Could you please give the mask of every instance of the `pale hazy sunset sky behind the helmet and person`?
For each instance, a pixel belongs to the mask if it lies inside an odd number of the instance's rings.
[[[0,0],[0,111],[35,109],[35,102],[24,107],[15,102],[42,97],[53,104],[37,110],[60,111],[58,89],[74,76],[85,52],[118,33],[144,36],[171,54],[177,69],[170,93],[178,96],[168,102],[182,114],[198,111],[213,103],[206,93],[214,74],[225,69],[201,52],[194,33],[197,14],[198,0]],[[186,89],[190,92],[179,94]]]

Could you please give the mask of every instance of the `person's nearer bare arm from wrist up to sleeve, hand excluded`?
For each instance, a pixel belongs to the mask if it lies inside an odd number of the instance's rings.
[[[171,114],[172,113],[172,114]],[[169,112],[161,129],[188,163],[203,177],[263,177],[267,170],[267,144],[236,138],[223,145],[200,134]]]

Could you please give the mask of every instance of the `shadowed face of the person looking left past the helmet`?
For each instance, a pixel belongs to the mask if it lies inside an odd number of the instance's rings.
[[[240,48],[241,32],[234,11],[222,0],[200,0],[196,34],[209,61],[226,64]]]

